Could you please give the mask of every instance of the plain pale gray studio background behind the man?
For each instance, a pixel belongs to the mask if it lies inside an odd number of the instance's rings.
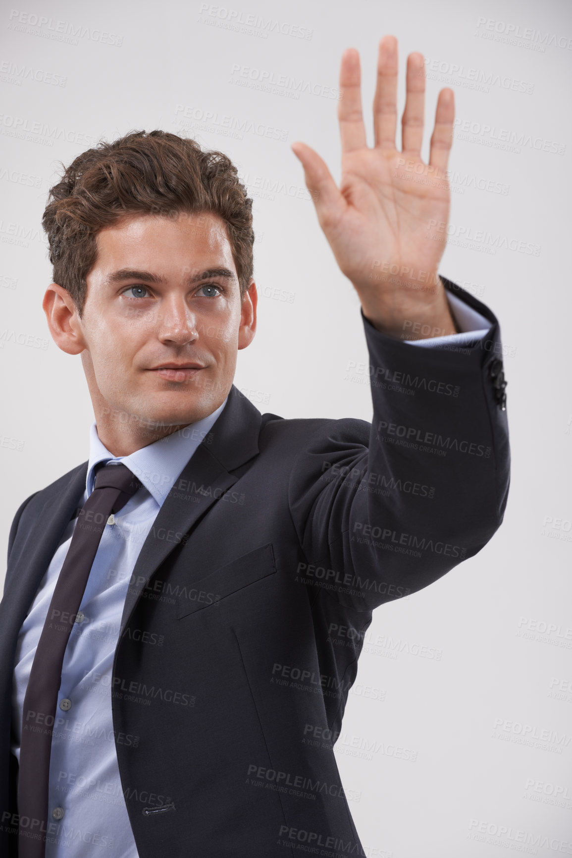
[[[339,180],[341,52],[360,52],[371,145],[377,43],[394,33],[400,113],[407,53],[427,61],[424,160],[438,90],[455,89],[440,270],[500,318],[513,472],[479,555],[374,613],[336,756],[367,855],[572,855],[569,3],[232,3],[26,0],[0,13],[2,558],[21,501],[87,459],[81,361],[41,309],[40,221],[58,162],[100,137],[161,128],[230,155],[255,201],[260,295],[235,384],[262,413],[371,420],[367,376],[348,375],[368,360],[357,295],[290,143]]]

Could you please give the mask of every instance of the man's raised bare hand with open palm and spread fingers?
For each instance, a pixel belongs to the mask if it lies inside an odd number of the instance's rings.
[[[364,316],[388,333],[398,333],[408,318],[453,334],[455,323],[437,269],[447,235],[443,224],[449,220],[446,170],[454,94],[451,89],[439,93],[429,164],[424,164],[424,57],[407,57],[401,151],[395,146],[397,70],[397,39],[385,36],[379,43],[373,102],[375,142],[368,148],[359,54],[348,48],[342,55],[340,188],[314,149],[295,142],[292,150],[304,166],[318,221],[341,271],[358,292]]]

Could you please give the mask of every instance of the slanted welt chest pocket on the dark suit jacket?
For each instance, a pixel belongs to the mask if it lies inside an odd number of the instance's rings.
[[[274,550],[272,542],[268,542],[224,566],[219,566],[185,587],[178,595],[177,619],[183,619],[190,613],[202,611],[207,607],[216,607],[229,595],[275,573]]]

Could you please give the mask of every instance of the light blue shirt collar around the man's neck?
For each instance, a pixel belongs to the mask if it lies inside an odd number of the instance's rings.
[[[159,506],[163,505],[168,493],[177,480],[190,457],[195,452],[202,439],[210,431],[222,409],[225,401],[212,414],[196,420],[190,426],[184,426],[177,432],[172,432],[165,438],[154,441],[140,450],[135,450],[129,456],[112,456],[105,444],[99,440],[97,425],[93,421],[89,430],[89,460],[87,462],[86,497],[93,492],[95,474],[93,470],[98,462],[123,462],[154,497]]]

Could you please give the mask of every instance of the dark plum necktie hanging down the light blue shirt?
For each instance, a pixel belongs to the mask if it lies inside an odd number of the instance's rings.
[[[48,808],[48,784],[63,656],[107,519],[121,510],[140,486],[121,463],[99,469],[57,577],[24,696],[18,778],[19,858],[45,856],[48,822],[54,821]]]

